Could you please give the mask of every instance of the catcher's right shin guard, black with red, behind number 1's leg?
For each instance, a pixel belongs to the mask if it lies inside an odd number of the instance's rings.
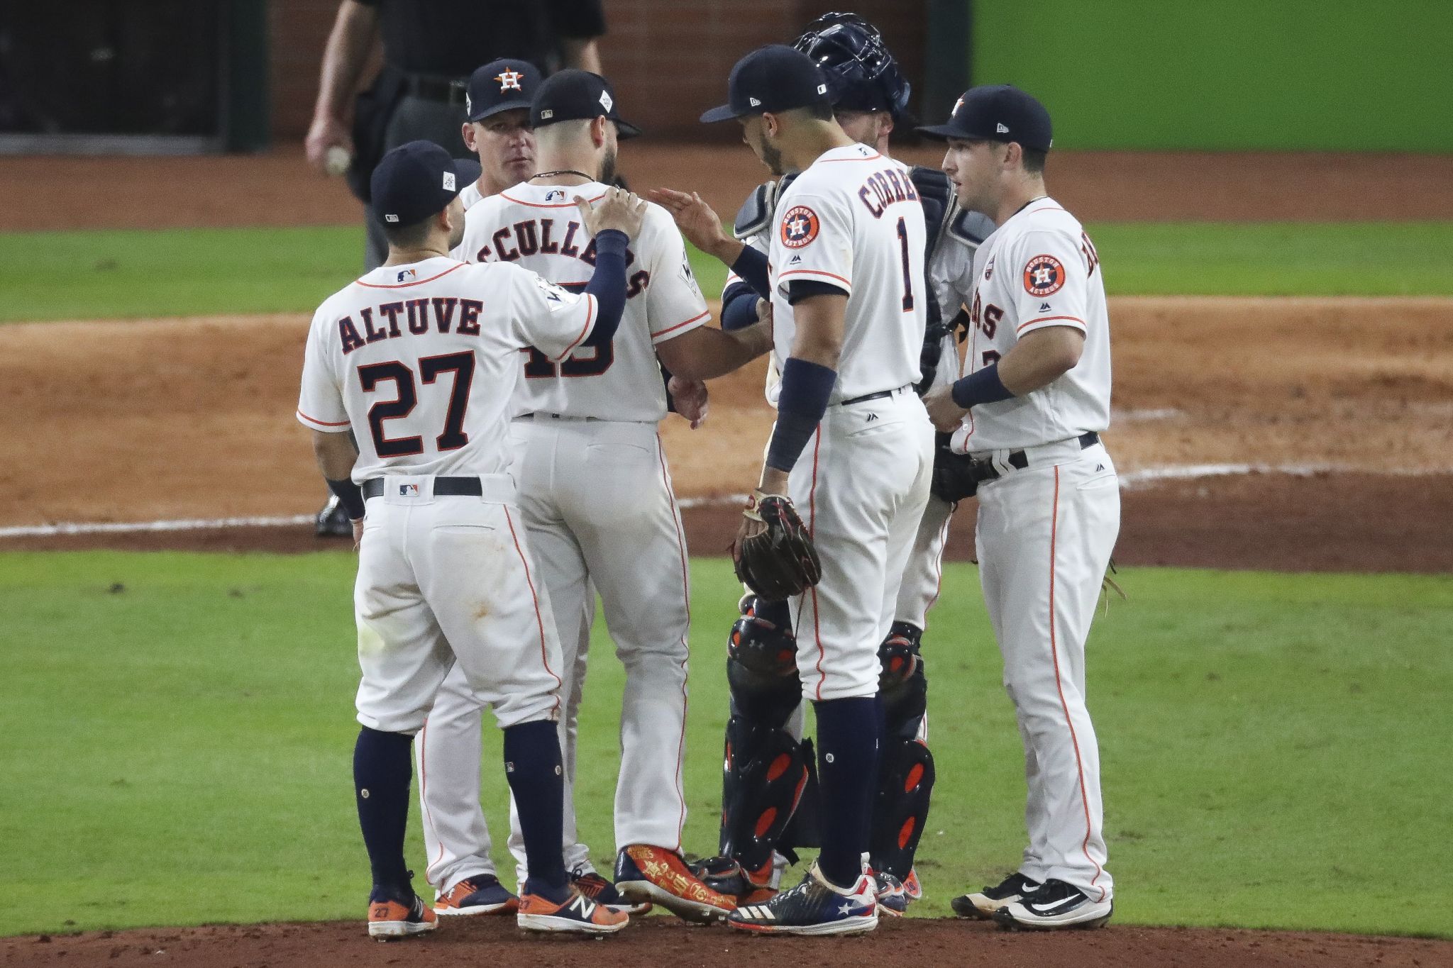
[[[885,730],[869,856],[875,871],[899,879],[912,871],[936,778],[933,753],[918,740],[928,705],[928,679],[918,655],[921,636],[912,625],[894,623],[878,652]]]

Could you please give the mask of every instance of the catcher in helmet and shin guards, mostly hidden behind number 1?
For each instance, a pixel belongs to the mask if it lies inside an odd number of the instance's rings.
[[[835,99],[834,115],[843,131],[888,154],[895,122],[907,118],[910,86],[878,29],[856,15],[830,13],[808,25],[795,46],[827,74]],[[776,199],[793,177],[769,181],[747,199],[737,215],[740,241],[767,251]],[[910,179],[924,206],[928,237],[924,287],[930,296],[928,324],[920,356],[923,376],[915,386],[923,392],[931,383],[952,382],[958,376],[953,316],[960,298],[953,283],[969,276],[974,250],[994,226],[985,216],[953,203],[943,171],[912,167]],[[700,228],[702,235],[692,237],[697,247],[711,251],[722,242],[729,245],[715,215],[702,219]],[[724,325],[754,321],[756,302],[751,287],[732,276],[722,293]],[[767,399],[773,405],[777,386],[773,372],[767,385]],[[927,679],[918,650],[926,614],[937,598],[952,509],[950,502],[930,496],[902,576],[897,621],[879,649],[886,740],[873,811],[870,866],[878,879],[879,908],[888,914],[901,914],[910,900],[921,897],[912,861],[927,819],[934,771],[927,749]],[[792,676],[796,641],[786,604],[747,596],[742,605],[745,614],[732,627],[728,641],[732,717],[726,730],[722,856],[703,862],[703,871],[718,890],[761,898],[776,887],[786,864],[783,852],[815,845],[815,832],[804,823],[811,819],[811,810],[796,811],[798,800],[811,801],[814,792],[811,781],[806,787],[798,782],[812,760],[812,747],[802,742],[801,697]],[[764,771],[779,755],[789,756],[792,768],[767,781]],[[767,823],[758,826],[764,817]]]

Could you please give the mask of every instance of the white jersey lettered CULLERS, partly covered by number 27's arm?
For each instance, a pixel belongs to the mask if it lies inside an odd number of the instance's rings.
[[[578,194],[597,202],[604,192],[606,186],[594,181],[517,184],[469,209],[461,250],[474,261],[517,263],[565,289],[584,287],[594,271],[596,248],[572,199]],[[626,309],[615,341],[577,350],[558,366],[532,353],[516,396],[517,412],[658,422],[665,418],[665,382],[655,344],[709,319],[681,234],[665,209],[648,205],[626,254]]]

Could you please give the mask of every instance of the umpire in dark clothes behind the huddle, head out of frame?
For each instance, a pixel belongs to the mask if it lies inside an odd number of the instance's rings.
[[[343,0],[323,54],[318,102],[308,129],[308,161],[327,170],[328,149],[353,155],[349,187],[368,202],[369,177],[386,151],[424,139],[471,158],[459,135],[465,84],[479,64],[514,57],[543,74],[561,67],[600,73],[596,38],[606,32],[602,0]],[[355,91],[384,41],[384,68]],[[388,255],[371,216],[363,264]]]

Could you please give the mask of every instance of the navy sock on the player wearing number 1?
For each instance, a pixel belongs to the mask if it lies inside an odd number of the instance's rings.
[[[863,872],[873,821],[873,787],[882,718],[878,697],[822,700],[818,720],[818,781],[822,785],[822,877],[851,887]]]

